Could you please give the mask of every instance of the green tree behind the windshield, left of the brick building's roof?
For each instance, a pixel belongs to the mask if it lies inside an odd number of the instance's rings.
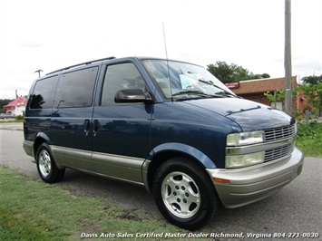
[[[241,82],[270,77],[268,73],[255,74],[235,63],[228,64],[220,61],[207,65],[207,70],[221,82]]]

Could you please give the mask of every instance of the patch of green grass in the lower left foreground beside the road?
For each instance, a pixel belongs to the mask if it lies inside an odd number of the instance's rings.
[[[79,240],[83,233],[187,232],[144,210],[72,194],[2,166],[0,183],[0,240]]]

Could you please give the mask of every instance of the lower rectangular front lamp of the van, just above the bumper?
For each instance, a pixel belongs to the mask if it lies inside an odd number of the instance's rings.
[[[226,169],[238,169],[264,162],[265,151],[255,152],[251,154],[226,156]]]

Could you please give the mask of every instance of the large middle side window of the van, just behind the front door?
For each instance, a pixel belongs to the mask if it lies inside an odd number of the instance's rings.
[[[91,106],[97,72],[98,67],[64,73],[57,85],[55,108]]]

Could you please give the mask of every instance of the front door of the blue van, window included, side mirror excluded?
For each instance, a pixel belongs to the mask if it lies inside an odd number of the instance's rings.
[[[141,182],[141,165],[150,151],[152,104],[117,103],[123,89],[148,92],[134,63],[106,66],[101,100],[93,111],[93,165],[97,172]]]

